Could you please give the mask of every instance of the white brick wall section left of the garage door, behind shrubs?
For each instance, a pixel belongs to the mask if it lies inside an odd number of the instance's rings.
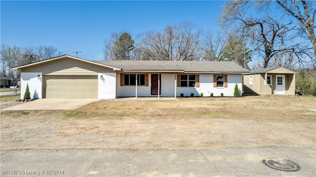
[[[40,75],[40,79],[38,78]],[[21,99],[24,98],[26,85],[29,84],[31,99],[42,98],[42,73],[41,72],[21,72]]]

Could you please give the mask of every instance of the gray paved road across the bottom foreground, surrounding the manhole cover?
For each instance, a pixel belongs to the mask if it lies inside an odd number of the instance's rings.
[[[218,150],[12,149],[1,150],[1,177],[83,176],[316,176],[315,147],[225,148]],[[298,172],[265,166],[279,157],[300,165]],[[6,173],[6,175],[5,175]],[[62,173],[61,175],[50,175]],[[9,175],[10,174],[10,175]],[[20,175],[11,175],[20,174]]]

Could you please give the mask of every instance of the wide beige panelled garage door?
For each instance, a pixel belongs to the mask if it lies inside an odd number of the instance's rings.
[[[45,75],[46,98],[98,98],[96,75]]]

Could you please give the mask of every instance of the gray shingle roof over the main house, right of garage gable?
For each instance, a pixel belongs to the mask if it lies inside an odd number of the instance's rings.
[[[234,62],[209,61],[93,61],[122,71],[249,72]]]

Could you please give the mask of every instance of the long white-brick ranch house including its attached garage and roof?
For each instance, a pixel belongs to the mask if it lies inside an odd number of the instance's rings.
[[[88,61],[63,55],[19,66],[21,96],[32,98],[179,97],[241,95],[246,69],[234,62]]]

